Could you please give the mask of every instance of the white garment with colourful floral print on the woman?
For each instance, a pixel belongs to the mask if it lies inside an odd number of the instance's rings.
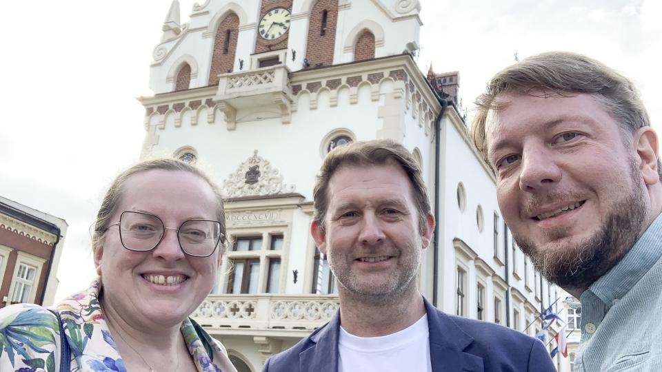
[[[70,347],[71,371],[126,372],[117,344],[99,306],[101,280],[92,281],[58,306]],[[57,318],[35,304],[14,304],[0,309],[0,371],[59,372],[60,328]],[[225,348],[190,318],[181,323],[197,371],[236,371]]]

